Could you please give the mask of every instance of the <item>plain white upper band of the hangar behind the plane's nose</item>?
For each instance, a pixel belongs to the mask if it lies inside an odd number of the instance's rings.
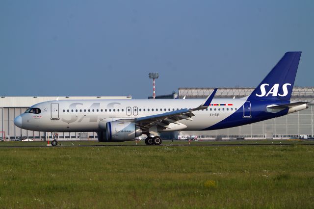
[[[106,96],[94,96],[94,97],[1,97],[0,107],[29,107],[33,104],[56,100],[109,100],[109,99],[132,99],[131,96],[118,96],[118,97],[106,97]]]

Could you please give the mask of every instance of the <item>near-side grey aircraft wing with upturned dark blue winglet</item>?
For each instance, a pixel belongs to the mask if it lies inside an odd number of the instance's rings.
[[[169,128],[170,123],[180,124],[178,121],[180,120],[193,120],[192,117],[195,116],[193,111],[206,109],[211,103],[213,97],[215,96],[217,89],[215,88],[211,94],[204,100],[202,104],[200,104],[196,108],[184,108],[175,111],[165,112],[162,114],[150,115],[145,117],[140,117],[135,119],[135,123],[143,129],[149,129],[152,126],[158,125],[165,129]]]

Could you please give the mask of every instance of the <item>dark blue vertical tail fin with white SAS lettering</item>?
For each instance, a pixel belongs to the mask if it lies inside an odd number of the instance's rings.
[[[287,52],[249,96],[249,100],[290,100],[301,52]]]

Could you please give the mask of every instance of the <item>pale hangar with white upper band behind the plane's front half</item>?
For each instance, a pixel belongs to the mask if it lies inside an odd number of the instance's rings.
[[[34,104],[52,101],[59,98],[59,100],[104,100],[104,99],[131,99],[131,96],[121,97],[1,97],[0,98],[0,137],[5,137],[6,140],[15,140],[19,138],[35,138],[35,140],[46,139],[47,132],[41,131],[27,131],[18,128],[14,125],[14,118]],[[52,137],[51,133],[50,138]],[[59,132],[59,139],[70,140],[78,139],[79,132]],[[86,135],[86,134],[85,134]],[[89,132],[89,138],[96,139],[96,132]]]

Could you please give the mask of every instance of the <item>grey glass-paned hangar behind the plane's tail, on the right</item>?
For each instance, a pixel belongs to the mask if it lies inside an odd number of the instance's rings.
[[[206,98],[214,88],[179,88],[178,96],[186,99]],[[218,88],[215,98],[242,98],[250,95],[255,88]],[[245,139],[269,138],[269,139],[288,139],[298,138],[300,135],[314,136],[313,132],[313,109],[314,109],[314,87],[294,87],[291,101],[310,102],[309,108],[288,114],[283,117],[269,119],[266,121],[239,126],[229,129],[215,131],[181,131],[183,136],[196,135],[199,138],[236,138],[237,136]]]

